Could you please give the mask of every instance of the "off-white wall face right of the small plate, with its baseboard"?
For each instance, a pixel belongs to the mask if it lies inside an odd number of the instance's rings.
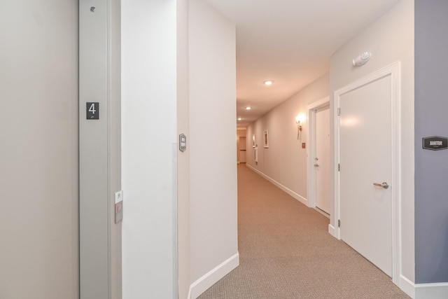
[[[190,262],[196,298],[239,263],[236,60],[235,25],[202,0],[190,0],[189,18]],[[214,269],[216,276],[206,275]]]

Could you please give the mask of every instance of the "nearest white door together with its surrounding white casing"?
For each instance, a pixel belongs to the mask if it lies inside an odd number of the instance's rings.
[[[337,90],[334,104],[335,237],[353,246],[398,284],[400,63]],[[383,181],[390,188],[373,185]]]

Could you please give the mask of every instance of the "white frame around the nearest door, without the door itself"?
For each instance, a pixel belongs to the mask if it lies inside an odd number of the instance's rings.
[[[333,119],[334,119],[334,136],[335,136],[335,148],[334,148],[334,215],[335,223],[333,223],[334,236],[337,239],[341,239],[340,228],[337,225],[340,219],[340,177],[338,171],[338,164],[340,161],[339,156],[339,102],[340,97],[356,90],[362,88],[364,85],[377,81],[381,78],[389,77],[391,79],[391,130],[392,130],[392,140],[391,140],[391,158],[392,158],[392,181],[391,186],[393,186],[392,192],[392,281],[394,284],[399,285],[400,274],[401,274],[401,136],[400,136],[400,99],[401,99],[401,87],[400,87],[400,62],[394,62],[378,71],[374,71],[363,78],[360,78],[344,88],[336,90],[333,97]],[[342,111],[343,113],[343,111]],[[344,165],[341,165],[343,168]],[[331,223],[330,223],[331,224]]]

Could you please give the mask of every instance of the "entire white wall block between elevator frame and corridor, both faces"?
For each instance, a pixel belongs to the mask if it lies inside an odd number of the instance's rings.
[[[186,3],[122,4],[123,298],[174,298],[176,241],[179,298],[238,265],[235,25]]]

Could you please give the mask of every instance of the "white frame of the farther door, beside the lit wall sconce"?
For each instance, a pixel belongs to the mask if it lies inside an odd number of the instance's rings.
[[[316,110],[330,106],[330,97],[324,97],[307,106],[307,198],[308,207],[316,208]]]

